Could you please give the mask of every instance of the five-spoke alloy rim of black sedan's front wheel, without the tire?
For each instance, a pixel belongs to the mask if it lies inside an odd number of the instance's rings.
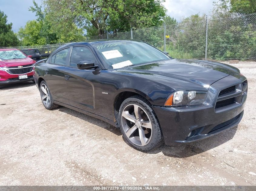
[[[122,127],[135,145],[145,146],[151,139],[151,121],[145,110],[136,104],[129,104],[122,111]]]

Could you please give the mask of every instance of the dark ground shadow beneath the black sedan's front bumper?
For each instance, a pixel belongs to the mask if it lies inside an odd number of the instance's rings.
[[[157,149],[154,149],[152,151],[148,151],[145,153],[157,154],[159,152],[162,152],[165,156],[174,157],[174,158],[191,157],[197,154],[201,154],[210,149],[214,149],[215,147],[218,147],[219,145],[222,145],[225,142],[228,142],[234,137],[237,131],[237,128],[238,126],[235,126],[231,129],[228,129],[212,137],[205,138],[203,140],[189,143],[186,145],[181,145],[181,146],[162,145]]]

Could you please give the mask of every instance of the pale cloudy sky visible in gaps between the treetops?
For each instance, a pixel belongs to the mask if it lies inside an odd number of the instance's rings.
[[[24,27],[29,20],[36,19],[35,13],[28,11],[33,5],[32,0],[0,0],[0,10],[7,15],[8,23],[12,22],[12,29],[18,32],[20,27]],[[41,4],[42,0],[35,0]],[[213,8],[213,0],[166,0],[164,5],[167,14],[181,21],[183,17],[191,14],[208,14]]]

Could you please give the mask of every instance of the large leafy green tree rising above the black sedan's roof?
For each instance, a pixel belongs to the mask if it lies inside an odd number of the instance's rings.
[[[98,35],[107,31],[130,30],[130,27],[151,27],[165,17],[163,0],[46,0],[45,10],[58,29],[76,24]]]

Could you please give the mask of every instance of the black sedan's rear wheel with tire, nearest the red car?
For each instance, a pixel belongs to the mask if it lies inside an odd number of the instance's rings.
[[[52,94],[45,81],[40,84],[40,96],[46,109],[53,110],[59,107],[58,104],[53,103]]]

